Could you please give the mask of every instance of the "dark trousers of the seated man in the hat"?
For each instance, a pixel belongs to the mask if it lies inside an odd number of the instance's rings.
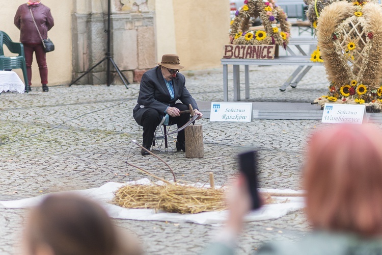
[[[175,104],[174,107],[178,108],[180,111],[188,110],[188,106],[183,104]],[[156,127],[162,120],[163,115],[160,115],[155,109],[146,110],[145,114],[142,116],[142,126],[143,126],[143,146],[147,148],[151,147],[152,141],[155,136]],[[178,128],[183,126],[189,120],[189,114],[184,113],[178,117],[170,117],[169,124],[177,124]],[[184,130],[178,132],[177,140],[184,142]]]

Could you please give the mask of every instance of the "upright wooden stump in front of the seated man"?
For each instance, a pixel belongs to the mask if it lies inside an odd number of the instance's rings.
[[[186,143],[186,158],[203,158],[202,125],[189,125],[184,130]]]

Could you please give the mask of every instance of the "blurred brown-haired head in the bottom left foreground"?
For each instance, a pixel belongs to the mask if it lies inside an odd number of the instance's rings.
[[[121,234],[96,202],[54,194],[32,209],[23,251],[28,255],[141,254],[138,243]]]

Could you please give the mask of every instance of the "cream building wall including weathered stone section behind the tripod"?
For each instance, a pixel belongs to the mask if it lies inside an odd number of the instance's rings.
[[[228,0],[111,0],[111,56],[128,81],[178,54],[184,70],[220,67],[228,42]],[[8,1],[0,9],[0,30],[19,41],[13,17],[26,0]],[[101,62],[107,52],[107,0],[42,0],[51,9],[54,27],[48,36],[56,50],[47,54],[50,85],[67,85]],[[7,51],[6,51],[7,52]],[[78,84],[105,84],[102,61]],[[15,70],[22,77],[21,70]],[[41,86],[34,60],[32,86]],[[114,83],[121,83],[112,66]]]

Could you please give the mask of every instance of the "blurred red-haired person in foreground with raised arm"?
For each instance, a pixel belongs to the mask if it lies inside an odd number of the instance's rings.
[[[225,230],[204,254],[234,254],[242,218],[251,208],[242,176],[229,199]],[[382,254],[382,131],[337,124],[308,143],[303,184],[312,233],[296,242],[265,243],[258,255]]]

